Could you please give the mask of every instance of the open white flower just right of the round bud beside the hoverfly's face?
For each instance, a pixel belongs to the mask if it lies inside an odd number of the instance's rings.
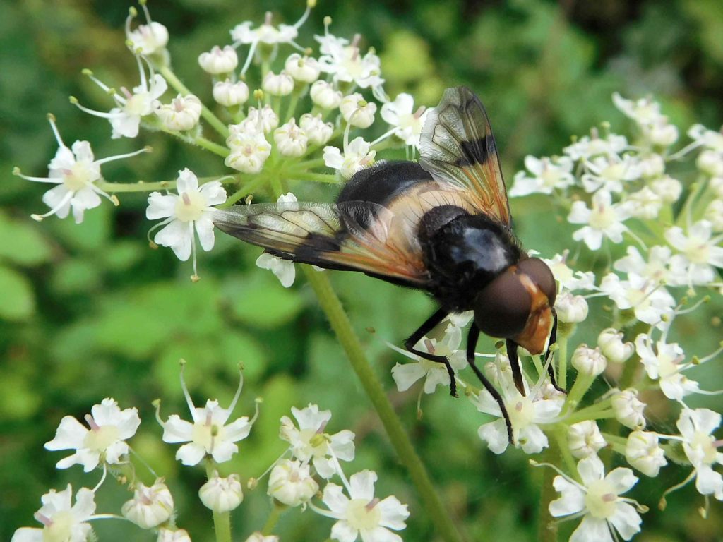
[[[663,315],[670,316],[675,299],[665,288],[637,273],[628,273],[628,280],[620,280],[615,273],[602,278],[600,291],[615,301],[618,309],[633,309],[635,316],[646,324],[660,324]]]

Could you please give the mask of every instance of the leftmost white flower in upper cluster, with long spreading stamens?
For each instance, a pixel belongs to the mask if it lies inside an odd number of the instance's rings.
[[[72,210],[75,223],[80,224],[83,221],[85,210],[94,209],[100,205],[100,196],[106,197],[114,205],[118,205],[116,197],[109,196],[95,185],[97,181],[103,179],[100,174],[100,165],[112,160],[138,155],[141,152],[146,152],[147,149],[95,160],[90,143],[76,141],[72,145],[72,150],[69,149],[60,137],[54,117],[48,116],[48,120],[58,142],[58,151],[55,153],[55,158],[48,164],[48,176],[30,177],[20,173],[17,168],[13,171],[15,175],[24,178],[26,181],[58,185],[43,194],[43,203],[48,205],[51,210],[43,215],[30,216],[34,220],[43,220],[43,218],[52,215],[57,215],[58,218],[66,218]]]

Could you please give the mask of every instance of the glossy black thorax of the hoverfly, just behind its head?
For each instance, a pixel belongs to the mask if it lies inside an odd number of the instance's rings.
[[[473,309],[474,296],[521,258],[512,234],[484,215],[451,205],[422,217],[419,238],[432,294],[445,309]]]

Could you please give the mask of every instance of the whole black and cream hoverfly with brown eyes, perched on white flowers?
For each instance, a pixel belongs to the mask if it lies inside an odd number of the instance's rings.
[[[539,354],[548,335],[555,342],[557,286],[547,264],[529,257],[513,234],[495,139],[471,90],[445,90],[424,124],[419,163],[382,161],[362,169],[335,204],[239,205],[214,222],[283,259],[360,271],[432,294],[440,309],[404,345],[446,366],[451,395],[448,359],[414,346],[448,314],[474,310],[467,361],[500,405],[513,444],[502,397],[474,361],[479,332],[505,338],[515,387],[525,395],[517,348]],[[557,387],[552,365],[548,371]]]

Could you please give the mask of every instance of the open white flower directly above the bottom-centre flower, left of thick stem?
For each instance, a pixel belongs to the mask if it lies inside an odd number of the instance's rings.
[[[319,410],[317,405],[309,404],[299,410],[291,407],[294,421],[288,416],[281,418],[280,436],[291,444],[291,454],[301,461],[314,465],[317,474],[322,478],[331,478],[336,472],[334,457],[338,460],[354,459],[354,433],[344,429],[333,435],[324,431],[331,419],[331,410]]]

